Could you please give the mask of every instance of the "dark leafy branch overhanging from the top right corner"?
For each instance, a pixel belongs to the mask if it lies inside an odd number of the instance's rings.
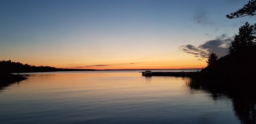
[[[249,0],[247,4],[244,5],[243,8],[239,9],[234,13],[227,14],[226,17],[229,19],[245,17],[245,16],[253,16],[256,11],[256,0]]]

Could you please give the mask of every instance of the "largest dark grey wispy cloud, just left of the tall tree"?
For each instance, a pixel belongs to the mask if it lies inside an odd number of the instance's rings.
[[[231,44],[233,37],[227,37],[226,34],[222,34],[213,40],[206,41],[204,44],[195,45],[182,45],[180,51],[188,54],[194,54],[195,57],[208,58],[210,52],[215,51],[218,56],[225,56],[228,54],[228,48]],[[200,59],[198,59],[200,61]]]

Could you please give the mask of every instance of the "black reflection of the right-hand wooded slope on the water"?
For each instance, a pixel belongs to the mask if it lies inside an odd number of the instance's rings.
[[[231,85],[244,82],[240,81],[201,81],[197,79],[186,78],[186,84],[192,90],[201,90],[211,93],[214,100],[230,98],[233,103],[233,110],[240,122],[243,124],[256,124],[256,91],[255,87],[232,87]]]

